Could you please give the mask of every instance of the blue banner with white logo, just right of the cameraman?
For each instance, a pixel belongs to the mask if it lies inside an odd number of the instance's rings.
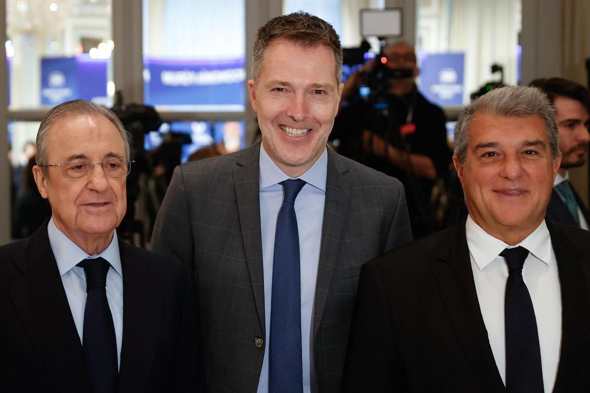
[[[420,93],[441,107],[463,105],[465,54],[421,54]]]

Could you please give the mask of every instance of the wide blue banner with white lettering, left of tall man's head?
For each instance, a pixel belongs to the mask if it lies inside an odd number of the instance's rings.
[[[245,59],[187,61],[144,58],[147,105],[176,110],[245,109]],[[180,107],[180,108],[179,108]]]

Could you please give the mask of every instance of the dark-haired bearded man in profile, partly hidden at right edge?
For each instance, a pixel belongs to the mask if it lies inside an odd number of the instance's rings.
[[[545,91],[557,111],[559,150],[563,154],[547,206],[547,217],[588,230],[590,212],[572,187],[568,169],[586,162],[590,142],[590,92],[581,84],[563,78],[537,79],[531,85]]]

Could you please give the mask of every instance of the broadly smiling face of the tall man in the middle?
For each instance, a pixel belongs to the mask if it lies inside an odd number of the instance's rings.
[[[268,45],[258,81],[248,87],[264,150],[284,173],[300,176],[322,155],[342,86],[330,48],[285,39]]]

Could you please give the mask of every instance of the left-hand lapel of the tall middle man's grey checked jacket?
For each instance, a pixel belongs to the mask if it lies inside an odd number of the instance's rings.
[[[258,321],[263,335],[264,324],[264,271],[260,227],[260,142],[242,151],[234,169],[235,198],[240,217],[244,253],[250,275]]]

